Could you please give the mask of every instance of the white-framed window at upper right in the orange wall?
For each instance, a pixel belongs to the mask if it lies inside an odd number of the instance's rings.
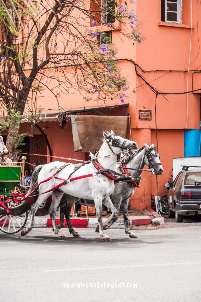
[[[181,0],[161,1],[161,21],[181,23]]]

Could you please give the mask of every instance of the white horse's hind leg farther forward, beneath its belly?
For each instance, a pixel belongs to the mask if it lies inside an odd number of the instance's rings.
[[[64,234],[62,234],[59,231],[57,223],[56,223],[56,218],[55,218],[56,210],[58,208],[59,202],[60,202],[61,197],[62,197],[63,194],[64,194],[63,192],[53,191],[53,193],[52,193],[52,202],[51,202],[51,205],[49,207],[49,215],[50,215],[50,218],[52,220],[52,226],[53,226],[55,234],[58,235],[59,239],[66,239]]]

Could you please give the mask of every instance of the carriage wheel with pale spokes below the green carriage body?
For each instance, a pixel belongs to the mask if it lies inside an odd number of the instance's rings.
[[[11,207],[12,203],[8,202],[7,207]],[[0,231],[7,234],[15,234],[22,230],[27,222],[28,212],[13,216],[6,212],[6,210],[0,207]]]

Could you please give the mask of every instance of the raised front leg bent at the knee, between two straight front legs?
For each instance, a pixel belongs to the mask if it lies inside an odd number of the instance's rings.
[[[108,199],[109,198],[109,199]],[[111,216],[102,224],[103,230],[107,230],[115,221],[117,221],[119,217],[119,210],[120,210],[120,204],[121,199],[115,198],[115,201],[111,201],[110,197],[106,198],[106,200],[103,201],[103,204],[112,211]],[[99,232],[99,226],[96,227],[96,232]]]

